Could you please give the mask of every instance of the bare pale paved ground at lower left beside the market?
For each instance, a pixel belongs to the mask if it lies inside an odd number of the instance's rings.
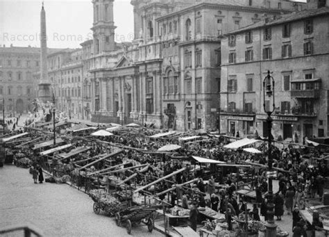
[[[67,184],[33,183],[27,169],[0,168],[0,229],[31,223],[44,236],[129,236],[114,218],[96,215],[92,199]],[[22,233],[7,236],[23,236]],[[163,236],[149,233],[146,225],[133,227],[130,236]]]

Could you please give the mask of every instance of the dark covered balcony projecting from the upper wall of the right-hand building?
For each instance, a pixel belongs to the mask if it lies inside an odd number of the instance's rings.
[[[319,99],[321,79],[291,81],[291,96],[297,99]]]

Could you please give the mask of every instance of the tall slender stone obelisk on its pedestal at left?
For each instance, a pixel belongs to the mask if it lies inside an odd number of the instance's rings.
[[[42,2],[42,9],[40,14],[40,82],[39,82],[39,99],[46,103],[51,101],[51,83],[48,80],[47,67],[47,31],[46,31],[46,12],[44,11],[44,3]]]

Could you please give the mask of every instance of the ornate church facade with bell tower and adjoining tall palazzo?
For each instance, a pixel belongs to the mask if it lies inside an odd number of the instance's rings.
[[[286,1],[131,4],[135,40],[117,44],[113,1],[93,1],[94,38],[81,44],[83,106],[92,122],[217,129],[222,35],[293,10]]]

